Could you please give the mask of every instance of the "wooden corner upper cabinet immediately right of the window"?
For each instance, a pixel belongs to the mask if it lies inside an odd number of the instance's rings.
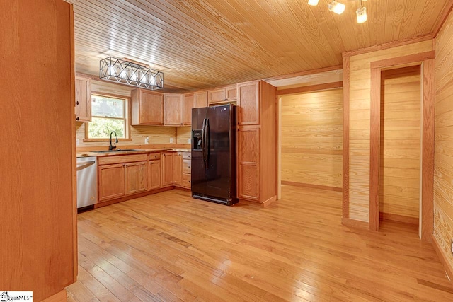
[[[164,124],[164,96],[161,93],[134,89],[130,93],[132,126],[139,124]]]

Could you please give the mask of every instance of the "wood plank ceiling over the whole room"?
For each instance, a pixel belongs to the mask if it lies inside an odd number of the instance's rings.
[[[68,0],[74,4],[76,71],[98,75],[108,56],[164,72],[184,92],[341,65],[341,54],[432,35],[451,0]]]

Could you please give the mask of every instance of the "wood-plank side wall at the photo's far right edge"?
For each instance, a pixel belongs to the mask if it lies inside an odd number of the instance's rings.
[[[434,238],[453,267],[453,13],[437,35],[435,47]]]

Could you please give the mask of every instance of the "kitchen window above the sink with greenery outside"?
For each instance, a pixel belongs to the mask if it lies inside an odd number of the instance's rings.
[[[113,131],[118,139],[128,138],[127,99],[91,95],[91,122],[86,124],[86,139],[109,139]]]

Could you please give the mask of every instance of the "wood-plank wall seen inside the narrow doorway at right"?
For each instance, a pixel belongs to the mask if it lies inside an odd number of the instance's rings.
[[[420,66],[382,71],[380,212],[386,219],[416,224],[420,209],[420,87]]]

